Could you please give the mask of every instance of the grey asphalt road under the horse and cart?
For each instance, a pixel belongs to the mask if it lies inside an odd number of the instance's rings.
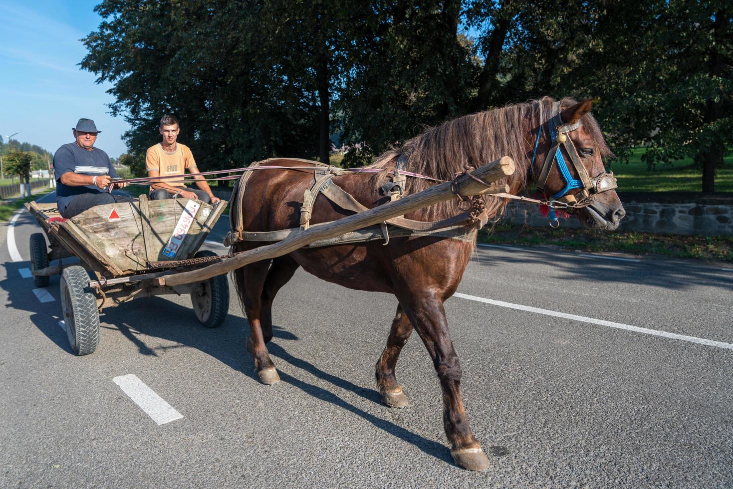
[[[220,328],[200,326],[188,297],[132,301],[108,309],[99,348],[78,357],[59,326],[59,277],[41,302],[21,275],[38,229],[20,213],[13,261],[0,224],[3,488],[733,486],[724,266],[477,249],[462,296],[446,303],[465,408],[491,461],[476,473],[450,459],[416,335],[397,369],[410,405],[379,402],[393,296],[298,271],[273,312],[276,386],[254,375],[233,287]],[[123,375],[183,417],[156,424],[113,380]]]

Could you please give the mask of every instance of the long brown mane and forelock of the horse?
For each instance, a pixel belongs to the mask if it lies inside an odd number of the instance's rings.
[[[408,163],[405,169],[440,180],[451,180],[456,172],[467,166],[478,168],[502,156],[509,156],[515,162],[515,172],[498,183],[509,185],[509,191],[516,193],[527,183],[529,164],[534,150],[537,127],[550,118],[555,100],[543,97],[527,103],[517,103],[499,109],[476,112],[445,122],[424,133],[408,139],[399,147],[391,147],[380,155],[370,167],[385,169],[372,177],[375,188],[382,185],[387,170],[394,169],[397,158],[405,153]],[[561,100],[563,109],[577,103],[572,98]],[[602,156],[611,155],[603,134],[591,114],[583,117],[583,127],[594,139]],[[528,128],[532,128],[528,132]],[[545,134],[546,136],[546,134]],[[405,191],[414,194],[435,185],[430,180],[408,177]],[[483,196],[489,217],[496,216],[507,206],[507,199]],[[450,199],[427,207],[421,216],[439,219],[460,213],[457,199]]]

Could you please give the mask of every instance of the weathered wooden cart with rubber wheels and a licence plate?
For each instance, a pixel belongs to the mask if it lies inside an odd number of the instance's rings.
[[[61,218],[55,203],[26,204],[51,245],[49,251],[43,233],[31,235],[34,282],[45,287],[49,276],[61,274],[62,312],[74,352],[94,352],[100,337],[99,313],[134,298],[190,294],[199,322],[210,328],[221,325],[229,312],[226,275],[173,286],[159,284],[158,279],[216,260],[216,254],[199,247],[226,204],[150,201],[142,195],[139,202],[99,205],[70,219]],[[72,256],[81,265],[63,262]],[[52,260],[59,260],[58,265],[49,265]],[[174,263],[177,270],[169,270]]]

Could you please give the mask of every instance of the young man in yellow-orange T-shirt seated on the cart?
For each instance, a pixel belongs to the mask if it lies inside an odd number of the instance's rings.
[[[172,115],[161,117],[161,126],[158,132],[163,141],[151,146],[145,157],[145,169],[148,177],[171,177],[189,173],[199,173],[196,161],[191,150],[185,144],[176,142],[178,138],[178,120]],[[203,202],[216,204],[218,197],[211,193],[211,188],[201,175],[194,177],[199,188],[184,185],[183,180],[165,179],[156,180],[150,185],[150,199],[162,200],[182,196],[186,199],[199,199]]]

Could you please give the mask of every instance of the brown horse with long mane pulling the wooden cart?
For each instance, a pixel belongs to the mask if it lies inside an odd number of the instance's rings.
[[[520,191],[531,180],[545,177],[542,189],[546,196],[559,198],[557,193],[567,187],[559,165],[544,172],[548,152],[555,149],[557,127],[550,128],[554,100],[542,98],[529,103],[506,106],[460,117],[425,130],[420,136],[406,141],[399,148],[388,150],[371,166],[383,169],[378,174],[343,174],[334,183],[352,194],[366,207],[388,201],[378,191],[389,177],[398,158],[408,156],[406,169],[439,180],[451,180],[466,166],[478,167],[508,155],[516,171],[501,181],[510,191]],[[561,100],[559,118],[575,155],[588,175],[608,177],[602,158],[610,155],[603,135],[589,113],[592,103],[586,100]],[[575,127],[581,123],[580,127]],[[556,123],[555,126],[559,124]],[[560,133],[563,131],[560,130]],[[555,146],[553,146],[555,144]],[[558,152],[568,155],[568,147]],[[578,155],[580,158],[578,159]],[[553,153],[550,156],[554,158]],[[554,163],[550,161],[550,163]],[[303,160],[276,158],[268,165],[303,167]],[[570,176],[578,181],[577,169]],[[323,168],[323,167],[321,167]],[[610,175],[611,178],[612,175]],[[596,183],[596,178],[591,178]],[[303,191],[314,182],[312,170],[263,169],[252,172],[246,182],[241,202],[232,196],[232,222],[241,218],[243,229],[251,232],[296,228],[299,225]],[[242,185],[242,180],[238,185]],[[408,177],[405,192],[410,194],[428,188],[430,180]],[[601,185],[599,185],[600,187]],[[614,185],[593,194],[592,204],[572,210],[587,227],[616,229],[625,211]],[[570,191],[578,194],[581,188]],[[596,189],[597,190],[597,189]],[[235,191],[236,194],[236,191]],[[489,216],[496,216],[507,204],[506,199],[483,196]],[[586,202],[589,199],[586,198]],[[427,221],[443,219],[461,212],[457,199],[418,210],[406,218]],[[351,212],[341,209],[323,195],[318,195],[312,210],[312,222],[334,221]],[[272,304],[278,290],[286,284],[298,267],[320,279],[356,290],[392,293],[397,297],[397,315],[380,359],[376,365],[377,389],[386,405],[402,408],[408,400],[395,377],[399,352],[408,341],[413,328],[427,348],[443,390],[443,424],[451,444],[451,454],[457,465],[472,470],[488,466],[488,459],[468,426],[460,394],[461,368],[451,341],[443,302],[456,291],[475,246],[476,227],[467,229],[470,239],[460,240],[440,236],[391,238],[386,246],[381,240],[367,243],[299,249],[274,260],[264,260],[234,271],[235,283],[246,312],[251,337],[247,346],[254,356],[254,368],[262,383],[279,381],[275,364],[265,346],[272,338]],[[253,249],[262,242],[235,243],[233,251]]]

